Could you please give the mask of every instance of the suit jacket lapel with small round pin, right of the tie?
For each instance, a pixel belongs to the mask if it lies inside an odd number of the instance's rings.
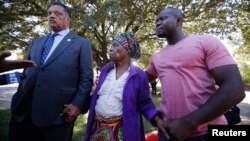
[[[51,62],[53,62],[71,43],[73,43],[75,39],[75,35],[72,32],[69,32],[62,41],[58,44],[54,52],[51,54],[51,56],[48,58],[48,60],[45,62],[43,67],[47,66]]]

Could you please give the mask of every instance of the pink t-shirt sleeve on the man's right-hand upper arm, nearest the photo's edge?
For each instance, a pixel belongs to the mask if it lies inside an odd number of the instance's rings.
[[[227,48],[216,37],[210,35],[204,36],[201,44],[205,50],[205,61],[209,69],[236,64]]]

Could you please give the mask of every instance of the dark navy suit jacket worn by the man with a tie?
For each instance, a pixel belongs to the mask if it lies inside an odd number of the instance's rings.
[[[69,32],[44,65],[43,45],[48,36],[32,41],[28,59],[37,67],[27,68],[12,97],[11,112],[17,121],[31,114],[37,126],[66,124],[60,113],[64,104],[87,111],[93,82],[91,42]]]

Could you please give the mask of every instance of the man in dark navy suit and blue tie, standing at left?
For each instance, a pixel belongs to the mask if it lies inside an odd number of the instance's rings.
[[[74,121],[86,113],[93,82],[91,42],[69,30],[70,9],[48,9],[52,33],[32,41],[27,68],[12,98],[10,141],[69,141]],[[46,56],[47,55],[47,56]]]

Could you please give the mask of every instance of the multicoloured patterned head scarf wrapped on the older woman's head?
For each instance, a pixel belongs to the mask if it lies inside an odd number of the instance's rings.
[[[134,59],[139,59],[141,56],[141,47],[137,42],[134,34],[131,32],[123,32],[119,36],[114,38],[124,48],[128,50],[129,56]]]

